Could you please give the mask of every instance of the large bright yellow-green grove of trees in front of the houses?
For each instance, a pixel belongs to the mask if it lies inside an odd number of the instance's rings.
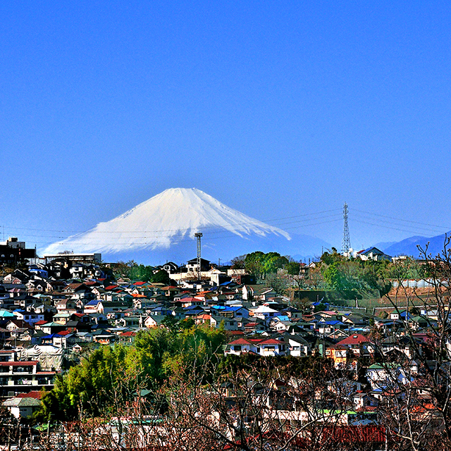
[[[185,321],[171,329],[140,330],[133,346],[100,347],[65,376],[57,376],[36,416],[63,421],[76,418],[80,410],[88,416],[113,412],[138,388],[156,388],[194,363],[199,372],[212,369],[225,340],[221,329],[192,327]]]

